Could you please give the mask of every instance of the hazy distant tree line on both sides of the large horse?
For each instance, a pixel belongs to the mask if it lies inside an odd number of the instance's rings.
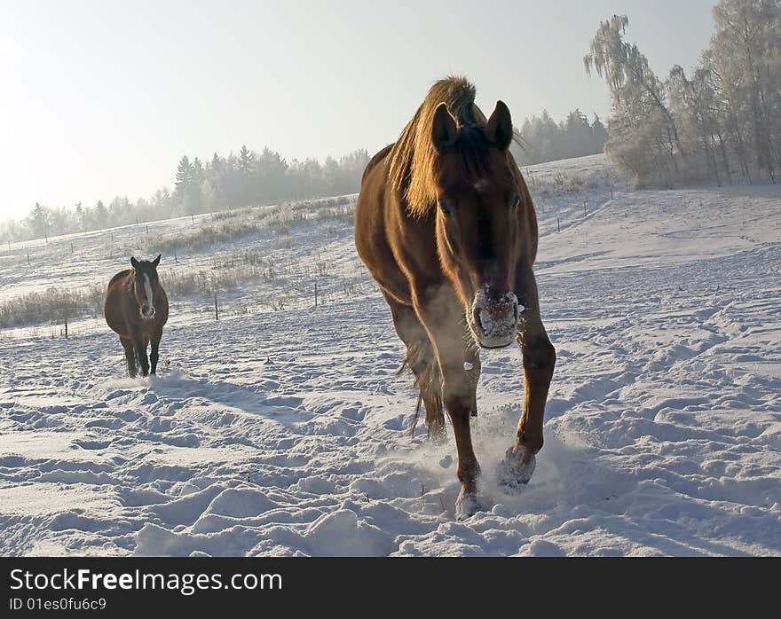
[[[556,123],[543,111],[526,119],[517,129],[523,147],[513,145],[519,165],[555,161],[602,153],[607,137],[599,117],[588,118],[575,109]],[[149,198],[131,201],[115,196],[92,206],[77,202],[73,207],[47,207],[36,202],[19,221],[0,222],[0,242],[43,239],[58,234],[102,230],[132,223],[145,223],[180,215],[212,212],[257,204],[343,195],[359,191],[360,177],[369,161],[366,150],[357,150],[338,161],[328,156],[286,161],[265,147],[257,153],[242,145],[239,153],[207,161],[183,155],[174,183]]]

